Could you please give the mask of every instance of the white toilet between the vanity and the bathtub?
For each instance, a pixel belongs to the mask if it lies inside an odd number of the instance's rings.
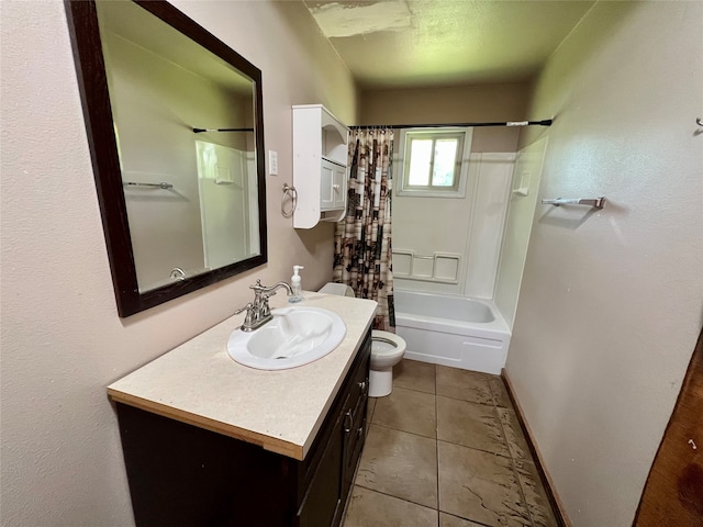
[[[354,290],[343,283],[326,283],[320,292],[354,296]],[[405,348],[405,340],[393,333],[371,332],[370,397],[383,397],[393,391],[393,366],[403,358]]]

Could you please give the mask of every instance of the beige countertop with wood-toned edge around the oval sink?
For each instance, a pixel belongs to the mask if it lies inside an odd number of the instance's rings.
[[[108,386],[118,402],[304,459],[349,370],[376,312],[376,302],[304,292],[298,305],[326,307],[347,326],[342,344],[299,368],[266,371],[242,366],[226,350],[236,315]],[[283,293],[271,307],[290,305]]]

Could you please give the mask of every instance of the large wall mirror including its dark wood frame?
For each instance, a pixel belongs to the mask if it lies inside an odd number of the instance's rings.
[[[166,1],[65,5],[120,316],[265,264],[260,70]]]

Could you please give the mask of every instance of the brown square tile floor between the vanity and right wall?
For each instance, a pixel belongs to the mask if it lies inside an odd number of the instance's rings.
[[[403,360],[370,399],[344,527],[556,527],[500,377]]]

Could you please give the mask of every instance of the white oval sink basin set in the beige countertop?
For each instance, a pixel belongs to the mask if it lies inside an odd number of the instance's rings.
[[[339,315],[323,307],[282,307],[271,314],[274,319],[254,332],[232,332],[227,340],[232,359],[259,370],[295,368],[327,355],[347,332]]]

